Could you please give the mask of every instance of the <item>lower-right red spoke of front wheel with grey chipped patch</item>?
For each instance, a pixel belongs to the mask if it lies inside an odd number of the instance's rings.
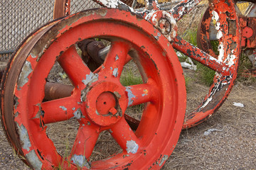
[[[134,134],[124,117],[110,129],[110,133],[124,152],[135,154],[139,149],[139,138]]]

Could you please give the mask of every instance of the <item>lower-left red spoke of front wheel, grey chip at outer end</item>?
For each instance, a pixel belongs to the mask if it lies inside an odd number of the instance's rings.
[[[85,161],[88,160],[92,154],[99,134],[100,128],[97,125],[90,124],[90,122],[85,119],[80,122],[78,134],[70,154],[71,160],[75,164],[85,164]],[[83,159],[79,159],[79,157]]]

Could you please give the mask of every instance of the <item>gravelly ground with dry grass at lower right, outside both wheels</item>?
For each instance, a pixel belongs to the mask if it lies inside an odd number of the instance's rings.
[[[256,143],[256,84],[237,82],[228,100],[206,122],[183,130],[163,169],[253,169]],[[244,108],[233,106],[240,102]],[[220,131],[203,135],[209,129]]]

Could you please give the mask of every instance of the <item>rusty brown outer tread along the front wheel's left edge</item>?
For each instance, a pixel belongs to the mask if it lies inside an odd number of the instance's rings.
[[[47,30],[49,30],[55,22],[48,23],[46,26],[43,26],[42,28],[34,31],[31,33],[31,35],[28,35],[28,37],[23,40],[22,44],[19,46],[19,50],[16,50],[16,54],[12,56],[12,59],[15,59],[18,55],[28,55],[28,52],[31,50],[32,45],[38,41],[38,39],[41,38],[43,33],[46,33]],[[25,59],[18,58],[15,61],[10,60],[9,64],[7,65],[7,69],[11,69],[11,67],[15,65],[20,65],[24,62]],[[10,79],[6,79],[6,75],[13,77],[12,81],[17,81],[18,79],[18,72],[21,72],[21,67],[15,67],[15,69],[12,69],[11,72],[4,72],[4,75],[1,79],[1,124],[6,132],[6,137],[9,140],[11,147],[13,147],[18,155],[21,155],[21,157],[24,157],[23,151],[20,149],[22,144],[18,141],[18,127],[16,127],[16,123],[14,122],[14,117],[16,114],[10,113],[8,110],[8,107],[16,107],[18,105],[17,97],[14,96],[14,94],[11,94],[11,89],[14,89],[14,84],[11,84]],[[10,91],[9,91],[10,90]],[[4,98],[6,99],[4,101]],[[8,101],[10,100],[10,101]],[[11,111],[12,112],[12,111]],[[26,159],[22,159],[22,161],[26,164],[28,162]]]

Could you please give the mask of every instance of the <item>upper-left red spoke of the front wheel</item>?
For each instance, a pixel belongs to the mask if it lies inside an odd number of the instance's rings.
[[[87,75],[90,75],[90,69],[87,67],[82,58],[78,55],[75,50],[75,45],[70,47],[58,58],[60,66],[63,67],[68,77],[73,82],[74,86],[83,85],[82,81],[86,79]]]

